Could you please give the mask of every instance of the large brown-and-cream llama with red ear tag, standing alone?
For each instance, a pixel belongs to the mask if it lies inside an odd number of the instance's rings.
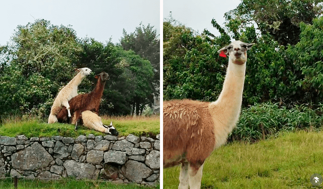
[[[218,53],[229,55],[223,89],[216,102],[164,102],[164,168],[182,164],[178,188],[201,186],[205,159],[226,143],[241,109],[247,50],[254,43],[234,41]]]

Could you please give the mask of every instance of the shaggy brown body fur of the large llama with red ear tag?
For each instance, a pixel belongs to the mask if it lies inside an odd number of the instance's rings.
[[[208,105],[191,100],[164,102],[164,167],[179,164],[182,159],[199,167],[213,151],[214,124],[212,119],[205,119],[211,117]]]

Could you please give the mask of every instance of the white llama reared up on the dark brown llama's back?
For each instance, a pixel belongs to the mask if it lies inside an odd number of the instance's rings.
[[[57,114],[61,111],[64,106],[68,112],[68,116],[71,117],[69,100],[77,96],[77,87],[82,82],[82,79],[89,75],[92,71],[89,68],[77,69],[79,72],[66,86],[60,90],[54,103],[51,106],[50,114],[48,117],[48,123],[58,122]]]

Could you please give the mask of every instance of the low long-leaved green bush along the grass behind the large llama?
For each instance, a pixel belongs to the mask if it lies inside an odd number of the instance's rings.
[[[242,109],[237,127],[228,140],[253,142],[275,135],[282,130],[318,129],[323,126],[322,113],[323,104],[315,110],[306,105],[288,109],[279,106],[278,103],[257,104]]]

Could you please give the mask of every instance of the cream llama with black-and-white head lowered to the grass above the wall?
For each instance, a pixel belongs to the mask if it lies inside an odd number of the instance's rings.
[[[83,125],[87,128],[94,129],[107,134],[112,134],[115,136],[119,135],[119,132],[112,125],[112,122],[109,126],[104,125],[101,121],[101,118],[94,112],[86,110],[81,113],[80,118],[83,120]]]

